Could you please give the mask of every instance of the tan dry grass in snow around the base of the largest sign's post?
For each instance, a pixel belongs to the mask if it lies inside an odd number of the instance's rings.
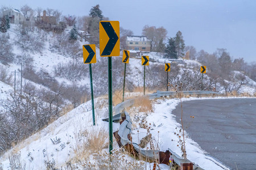
[[[75,138],[75,157],[70,162],[82,169],[144,169],[144,162],[129,158],[121,148],[113,150],[110,155],[106,151],[108,132],[103,128],[79,131]]]

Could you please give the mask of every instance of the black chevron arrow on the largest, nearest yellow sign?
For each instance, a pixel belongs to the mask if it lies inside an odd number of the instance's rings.
[[[102,27],[105,29],[107,35],[109,36],[109,41],[106,44],[101,56],[109,56],[114,49],[115,44],[117,43],[118,36],[115,33],[114,28],[110,22],[101,22]]]

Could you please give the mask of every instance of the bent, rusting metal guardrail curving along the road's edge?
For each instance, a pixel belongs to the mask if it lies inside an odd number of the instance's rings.
[[[213,91],[183,91],[182,92],[184,95],[210,95],[210,94],[218,94],[217,92],[213,92]],[[155,99],[158,97],[162,97],[162,96],[173,96],[176,95],[176,92],[173,91],[156,91],[156,93],[154,94],[148,94],[142,97],[148,97],[149,99]],[[142,97],[137,97],[136,99],[140,99]],[[119,120],[121,120],[121,113],[125,110],[125,108],[130,107],[131,105],[134,104],[135,99],[129,99],[126,101],[123,101],[122,103],[119,103],[115,106],[114,108],[114,113],[115,116],[113,116],[113,122],[118,122]],[[118,113],[118,114],[116,114]],[[159,150],[144,150],[144,148],[139,147],[139,145],[137,143],[132,143],[129,139],[128,139],[128,135],[131,133],[131,120],[130,120],[130,116],[129,113],[124,112],[126,119],[122,122],[122,124],[120,125],[119,131],[118,131],[118,135],[121,137],[121,143],[123,146],[125,146],[127,143],[133,145],[133,147],[135,148],[135,150],[139,153],[142,154],[143,156],[146,156],[147,158],[157,158],[156,156],[159,153]],[[104,121],[109,121],[109,118],[105,118],[103,119]],[[174,151],[172,151],[170,148],[168,148],[168,151],[171,152],[172,154],[172,159],[174,159],[174,162],[178,165],[181,165],[183,163],[192,163],[190,160],[188,159],[183,159],[181,158],[179,155],[177,155]],[[159,159],[159,155],[158,158]],[[193,169],[203,169],[200,168],[198,165],[193,164]]]

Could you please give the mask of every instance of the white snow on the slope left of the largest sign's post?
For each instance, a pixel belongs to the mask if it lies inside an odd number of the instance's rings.
[[[97,103],[97,100],[96,100]],[[46,169],[44,162],[55,160],[56,167],[65,165],[73,158],[76,148],[77,133],[83,129],[104,128],[108,129],[108,122],[101,121],[102,116],[108,111],[106,108],[96,109],[96,126],[92,127],[91,101],[81,104],[76,109],[68,112],[55,122],[24,140],[14,149],[7,151],[0,158],[3,169],[10,169],[8,155],[11,152],[20,152],[22,160],[28,169]],[[119,127],[113,126],[114,130]]]

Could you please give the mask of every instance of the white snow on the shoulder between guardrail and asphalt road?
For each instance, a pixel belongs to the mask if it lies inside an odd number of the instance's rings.
[[[212,98],[200,98],[200,100],[212,99]],[[223,99],[223,98],[218,98]],[[185,100],[197,100],[197,98],[183,99]],[[158,100],[157,104],[154,105],[154,113],[148,114],[146,117],[147,124],[151,124],[151,134],[156,138],[156,141],[159,141],[160,151],[166,151],[170,148],[172,151],[176,152],[176,154],[181,156],[180,147],[177,147],[179,143],[176,128],[179,130],[181,125],[176,122],[175,115],[171,114],[171,111],[175,109],[179,105],[179,100],[170,99],[161,101]],[[135,131],[135,132],[134,132]],[[139,131],[139,133],[138,133]],[[133,130],[134,134],[133,142],[138,142],[141,138],[146,136],[147,131],[142,128],[136,128]],[[185,136],[188,134],[184,131]],[[173,141],[172,141],[173,140]],[[202,150],[200,146],[193,141],[191,138],[185,139],[186,150],[188,159],[192,162],[198,164],[201,168],[204,169],[229,169],[218,163],[216,160],[207,156],[207,152]],[[162,167],[162,169],[168,169],[167,167]]]

